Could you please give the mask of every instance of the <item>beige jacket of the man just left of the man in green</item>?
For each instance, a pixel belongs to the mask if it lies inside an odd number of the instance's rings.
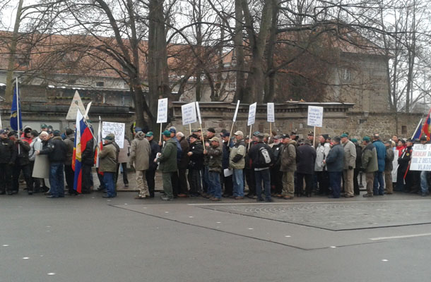
[[[135,166],[136,171],[146,171],[150,168],[150,155],[150,142],[146,140],[145,134],[136,134],[135,139],[131,142],[130,164]]]

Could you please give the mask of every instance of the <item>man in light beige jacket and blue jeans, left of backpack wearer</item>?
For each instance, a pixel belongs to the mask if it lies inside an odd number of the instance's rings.
[[[238,130],[235,134],[235,145],[230,149],[229,166],[233,169],[233,196],[235,200],[244,199],[245,143],[244,133]]]

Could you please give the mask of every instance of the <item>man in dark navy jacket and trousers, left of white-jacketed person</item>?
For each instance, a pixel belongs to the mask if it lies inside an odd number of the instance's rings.
[[[304,140],[304,145],[297,148],[298,162],[296,164],[296,175],[298,193],[302,191],[302,183],[305,179],[305,194],[312,197],[314,163],[316,161],[316,149],[312,147],[309,139]]]

